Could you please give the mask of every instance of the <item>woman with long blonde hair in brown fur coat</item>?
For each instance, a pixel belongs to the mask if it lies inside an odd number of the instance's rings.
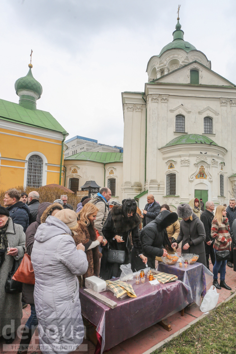
[[[88,269],[83,275],[83,286],[85,278],[92,275],[99,276],[100,273],[100,258],[99,245],[103,241],[103,237],[96,234],[94,228],[94,220],[98,214],[98,208],[92,203],[86,203],[78,214],[78,229],[74,233],[73,238],[76,246],[82,243],[85,247],[85,253],[88,261]],[[81,283],[81,279],[80,283]],[[82,286],[82,284],[80,284]]]

